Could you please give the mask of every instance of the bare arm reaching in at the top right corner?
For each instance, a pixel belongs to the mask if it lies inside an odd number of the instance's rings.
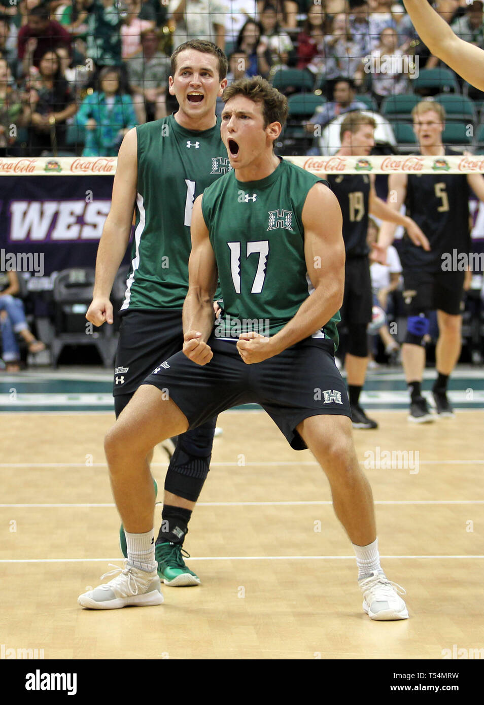
[[[427,0],[404,0],[418,36],[447,66],[479,90],[484,90],[484,51],[457,37]]]

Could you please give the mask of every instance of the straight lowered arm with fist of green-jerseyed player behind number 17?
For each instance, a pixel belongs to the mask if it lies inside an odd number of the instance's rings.
[[[119,149],[111,208],[97,249],[94,293],[85,314],[87,320],[95,326],[102,326],[104,321],[113,322],[113,306],[109,295],[131,235],[138,180],[137,152],[138,139],[133,128],[126,133]]]

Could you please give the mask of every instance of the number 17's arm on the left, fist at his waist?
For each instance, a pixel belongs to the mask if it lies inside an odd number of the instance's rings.
[[[193,204],[190,234],[192,250],[188,260],[188,293],[183,304],[183,353],[197,364],[207,364],[213,357],[207,340],[214,326],[217,262],[202,214],[202,196]]]

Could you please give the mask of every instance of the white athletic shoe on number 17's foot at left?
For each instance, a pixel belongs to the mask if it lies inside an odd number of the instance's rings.
[[[81,607],[92,610],[117,610],[128,605],[138,607],[161,605],[163,595],[156,570],[153,572],[138,570],[133,568],[133,565],[128,565],[127,560],[124,561],[124,568],[118,568],[112,563],[109,565],[116,570],[104,573],[101,580],[116,572],[120,572],[121,575],[116,575],[105,585],[99,585],[94,590],[80,595],[78,604]]]

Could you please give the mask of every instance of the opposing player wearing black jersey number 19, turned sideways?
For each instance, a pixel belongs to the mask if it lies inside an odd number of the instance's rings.
[[[372,116],[349,113],[341,123],[340,157],[368,156],[375,146],[376,123]],[[367,326],[371,321],[373,293],[366,241],[368,214],[405,226],[418,246],[428,247],[424,233],[410,218],[392,210],[375,192],[372,174],[346,174],[326,177],[339,200],[343,214],[343,238],[346,250],[344,300],[340,310],[341,324],[348,330],[345,357],[346,381],[349,388],[351,418],[355,429],[375,429],[377,422],[365,414],[359,398],[368,365]]]

